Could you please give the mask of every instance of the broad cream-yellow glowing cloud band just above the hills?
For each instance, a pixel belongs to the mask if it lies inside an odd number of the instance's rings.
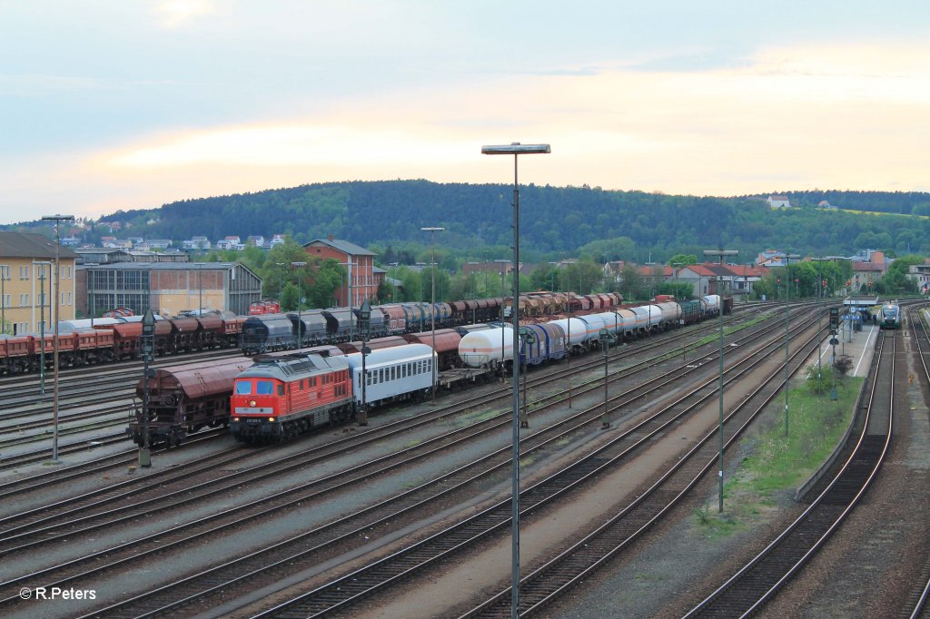
[[[314,101],[314,112],[290,117],[133,136],[54,165],[21,162],[14,185],[32,200],[53,185],[73,210],[105,212],[349,179],[507,183],[512,169],[480,146],[519,140],[551,143],[551,155],[521,160],[521,182],[537,184],[711,195],[920,190],[930,166],[927,72],[923,44],[817,44],[767,47],[745,64],[703,71],[615,65],[472,77],[328,108]]]

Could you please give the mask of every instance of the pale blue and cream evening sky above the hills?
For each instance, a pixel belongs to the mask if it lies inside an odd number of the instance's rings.
[[[0,0],[0,224],[342,180],[930,191],[925,0]]]

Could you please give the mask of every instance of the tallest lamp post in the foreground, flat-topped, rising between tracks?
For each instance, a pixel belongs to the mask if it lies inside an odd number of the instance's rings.
[[[513,155],[513,302],[517,303],[520,298],[520,189],[517,175],[517,161],[521,154],[545,154],[551,152],[549,144],[521,144],[512,142],[509,145],[483,146],[483,154],[490,155]],[[514,307],[512,313],[513,319],[513,337],[517,336],[520,330],[519,316],[517,308]],[[511,616],[520,616],[520,422],[518,419],[520,411],[520,350],[519,347],[513,347],[513,445],[512,445],[512,585],[511,585]]]

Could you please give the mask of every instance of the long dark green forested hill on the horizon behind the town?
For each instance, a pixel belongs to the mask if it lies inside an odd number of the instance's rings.
[[[529,185],[520,191],[521,248],[527,260],[575,256],[657,260],[700,248],[754,255],[778,247],[821,255],[873,247],[930,253],[926,217],[873,217],[816,208],[901,213],[930,211],[928,193],[787,192],[798,208],[773,210],[761,196],[698,198],[642,191]],[[270,237],[287,233],[300,243],[332,234],[363,246],[428,244],[425,226],[446,229],[441,241],[463,255],[512,244],[512,186],[439,184],[426,180],[304,185],[185,200],[154,211],[117,212],[101,221],[132,223],[131,232],[176,241],[206,235]],[[874,208],[870,208],[873,206]],[[157,222],[146,225],[146,220]]]

